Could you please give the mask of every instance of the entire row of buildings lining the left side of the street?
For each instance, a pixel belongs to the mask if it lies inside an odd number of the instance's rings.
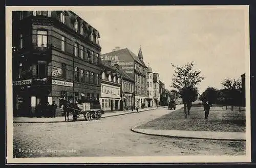
[[[100,34],[72,11],[12,13],[13,113],[40,102],[99,101],[103,110],[160,105],[159,74],[130,49],[101,54]],[[57,108],[56,115],[60,115]]]

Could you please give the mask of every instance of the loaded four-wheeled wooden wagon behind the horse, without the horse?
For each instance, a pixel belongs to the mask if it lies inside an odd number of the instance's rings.
[[[69,107],[71,108],[71,107]],[[73,110],[73,121],[77,121],[77,118],[84,117],[86,121],[91,119],[99,120],[101,118],[100,107],[90,102],[83,102],[77,104],[77,108],[71,108]]]

